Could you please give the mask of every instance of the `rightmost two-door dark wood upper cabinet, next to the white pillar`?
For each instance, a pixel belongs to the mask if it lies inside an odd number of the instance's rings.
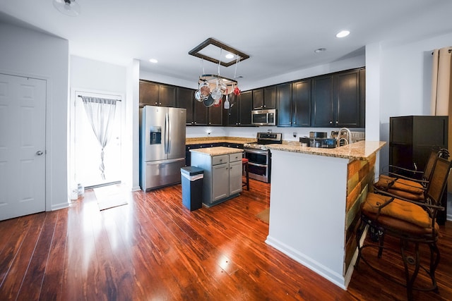
[[[364,72],[364,71],[363,71]],[[364,85],[361,69],[320,76],[312,79],[311,126],[364,126]]]

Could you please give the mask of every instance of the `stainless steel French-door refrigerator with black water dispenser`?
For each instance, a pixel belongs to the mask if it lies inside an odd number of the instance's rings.
[[[180,183],[185,166],[186,109],[144,106],[140,117],[141,189]]]

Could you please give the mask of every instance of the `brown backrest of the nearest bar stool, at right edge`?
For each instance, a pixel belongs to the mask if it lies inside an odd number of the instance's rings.
[[[448,159],[437,158],[432,171],[429,187],[425,193],[432,205],[441,206],[441,197],[446,188],[447,179],[452,168],[452,162]]]

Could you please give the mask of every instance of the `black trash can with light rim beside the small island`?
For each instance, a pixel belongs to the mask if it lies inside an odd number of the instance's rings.
[[[190,211],[203,207],[204,171],[196,166],[181,168],[182,204]]]

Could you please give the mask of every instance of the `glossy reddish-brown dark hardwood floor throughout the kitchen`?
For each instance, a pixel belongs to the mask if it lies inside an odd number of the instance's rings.
[[[266,245],[268,225],[256,218],[269,205],[266,183],[251,180],[239,197],[196,211],[181,194],[181,185],[131,192],[129,204],[99,211],[88,190],[68,209],[1,221],[0,300],[406,298],[363,262],[342,290]],[[439,293],[415,292],[415,300],[452,300],[451,222],[439,248]],[[380,262],[400,273],[396,257]]]

